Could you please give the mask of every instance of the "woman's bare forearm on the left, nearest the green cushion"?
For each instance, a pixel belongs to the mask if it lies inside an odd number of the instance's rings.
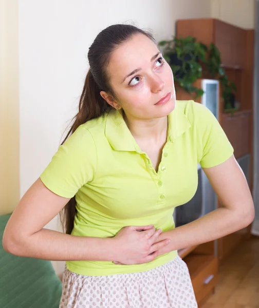
[[[17,256],[53,261],[116,259],[113,238],[79,237],[44,228],[19,242],[13,240],[6,250]]]

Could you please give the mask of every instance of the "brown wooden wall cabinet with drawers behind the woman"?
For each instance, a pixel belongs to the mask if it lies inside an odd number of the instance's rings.
[[[245,30],[214,18],[179,20],[176,36],[194,36],[206,45],[214,43],[221,54],[222,67],[229,80],[235,82],[239,110],[224,112],[224,101],[219,99],[219,123],[226,132],[235,158],[250,154],[250,189],[253,187],[253,59],[254,30]],[[207,78],[206,75],[202,78]],[[194,86],[201,87],[201,80]],[[190,100],[192,96],[183,90],[176,93],[177,100]],[[196,102],[200,103],[198,99]],[[218,201],[218,207],[221,206]],[[217,241],[181,249],[179,255],[187,263],[195,296],[200,306],[213,292],[217,282],[218,261],[225,258],[244,239],[249,238],[251,226]],[[217,256],[215,256],[215,246]]]

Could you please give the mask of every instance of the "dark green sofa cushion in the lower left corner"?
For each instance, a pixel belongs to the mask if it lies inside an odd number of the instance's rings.
[[[51,262],[4,251],[3,233],[10,216],[0,216],[0,307],[58,308],[62,283]]]

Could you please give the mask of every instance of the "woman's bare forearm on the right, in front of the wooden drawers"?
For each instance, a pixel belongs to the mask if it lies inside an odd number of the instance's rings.
[[[217,208],[191,223],[160,234],[159,240],[170,239],[171,242],[162,248],[159,254],[213,241],[250,223],[249,216],[242,216],[241,213],[235,213],[226,207]]]

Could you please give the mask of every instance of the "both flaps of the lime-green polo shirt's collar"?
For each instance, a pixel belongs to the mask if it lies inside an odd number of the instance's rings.
[[[176,105],[168,115],[168,139],[174,142],[191,127],[183,108]],[[131,131],[128,129],[122,115],[122,109],[112,109],[107,114],[105,137],[109,144],[117,151],[139,151]]]

